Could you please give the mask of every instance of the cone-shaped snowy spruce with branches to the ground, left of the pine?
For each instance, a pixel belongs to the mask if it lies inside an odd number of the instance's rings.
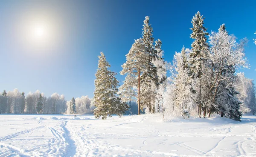
[[[118,80],[116,80],[116,73],[108,70],[110,64],[107,62],[103,52],[100,53],[98,69],[96,71],[95,91],[94,91],[94,105],[96,108],[94,116],[96,118],[102,117],[107,119],[107,116],[111,117],[112,114],[117,114],[119,117],[128,110],[128,105],[123,103],[117,94]]]

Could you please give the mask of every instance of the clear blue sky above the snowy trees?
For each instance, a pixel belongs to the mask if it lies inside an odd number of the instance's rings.
[[[142,36],[145,16],[171,62],[183,45],[190,48],[189,28],[197,11],[208,32],[225,23],[230,34],[249,39],[245,53],[251,68],[242,71],[256,80],[255,0],[1,0],[0,90],[18,88],[27,94],[39,89],[67,100],[93,97],[100,51],[122,83],[121,65],[134,39]],[[47,28],[42,39],[32,37],[36,25]]]

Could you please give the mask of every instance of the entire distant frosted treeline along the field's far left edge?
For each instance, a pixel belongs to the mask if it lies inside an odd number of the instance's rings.
[[[37,90],[25,96],[18,89],[4,90],[0,95],[0,114],[92,114],[94,108],[88,96],[67,101],[63,94],[53,93],[45,97]]]

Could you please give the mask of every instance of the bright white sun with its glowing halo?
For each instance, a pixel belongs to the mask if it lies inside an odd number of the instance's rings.
[[[20,32],[19,39],[24,51],[27,54],[48,54],[49,50],[56,47],[59,37],[56,23],[49,18],[33,17],[27,21],[22,21],[18,28]],[[24,38],[23,38],[24,37]]]

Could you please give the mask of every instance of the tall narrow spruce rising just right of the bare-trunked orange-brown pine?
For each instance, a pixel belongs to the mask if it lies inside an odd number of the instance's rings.
[[[154,49],[153,28],[149,24],[148,16],[145,17],[142,34],[145,52],[148,54],[148,63],[146,64],[147,71],[141,76],[141,103],[144,108],[147,108],[149,113],[154,113],[154,101],[157,97],[157,86],[159,86],[159,82],[157,67],[153,62],[159,57],[157,56],[157,51]]]

